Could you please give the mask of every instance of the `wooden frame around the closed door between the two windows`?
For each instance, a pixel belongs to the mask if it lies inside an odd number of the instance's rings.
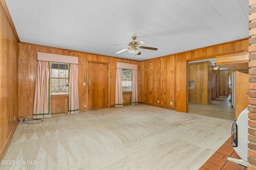
[[[108,62],[102,62],[102,61],[92,61],[92,60],[86,60],[86,105],[89,106],[89,63],[96,63],[96,64],[107,64],[108,65],[108,108],[110,108],[110,70],[109,70],[109,63]],[[89,107],[86,107],[86,111],[89,110]]]

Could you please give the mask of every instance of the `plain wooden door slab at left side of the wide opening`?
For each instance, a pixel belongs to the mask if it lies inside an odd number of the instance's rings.
[[[176,111],[188,112],[188,63],[176,65]]]

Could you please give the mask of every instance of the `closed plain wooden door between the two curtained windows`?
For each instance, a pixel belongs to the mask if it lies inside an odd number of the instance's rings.
[[[88,63],[88,109],[108,107],[108,64]]]

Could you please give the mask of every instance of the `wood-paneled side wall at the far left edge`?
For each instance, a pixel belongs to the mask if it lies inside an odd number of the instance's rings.
[[[2,160],[18,124],[18,41],[1,4],[0,40],[0,160]]]

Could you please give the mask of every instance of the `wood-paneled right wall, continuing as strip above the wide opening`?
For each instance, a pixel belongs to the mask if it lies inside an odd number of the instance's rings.
[[[248,52],[248,46],[247,38],[141,61],[141,102],[152,106],[176,109],[176,63]]]

